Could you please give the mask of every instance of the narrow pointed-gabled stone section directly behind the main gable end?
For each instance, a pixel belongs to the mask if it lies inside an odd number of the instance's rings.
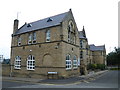
[[[89,64],[89,45],[88,39],[86,37],[85,28],[83,26],[82,31],[79,31],[79,41],[80,41],[80,61],[81,67],[80,72],[81,74],[87,74],[87,65]]]

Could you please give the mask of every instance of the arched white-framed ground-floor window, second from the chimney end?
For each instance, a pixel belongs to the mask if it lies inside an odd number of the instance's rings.
[[[29,55],[27,58],[27,70],[35,70],[35,57]]]

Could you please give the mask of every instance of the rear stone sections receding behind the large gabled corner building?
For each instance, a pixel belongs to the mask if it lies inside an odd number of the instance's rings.
[[[95,46],[89,45],[86,37],[85,28],[79,31],[80,41],[80,73],[88,74],[87,66],[89,64],[105,64],[106,65],[106,49],[105,45]]]

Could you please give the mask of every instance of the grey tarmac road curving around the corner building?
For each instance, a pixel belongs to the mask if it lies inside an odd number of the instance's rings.
[[[120,71],[119,71],[120,72]],[[3,88],[118,88],[118,71],[108,71],[96,77],[74,83],[50,84],[3,81]]]

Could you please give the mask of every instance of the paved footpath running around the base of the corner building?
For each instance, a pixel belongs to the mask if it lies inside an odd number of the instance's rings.
[[[18,77],[2,77],[3,81],[21,81],[21,82],[32,82],[32,83],[41,83],[41,84],[72,84],[72,83],[77,83],[79,81],[84,81],[87,79],[90,79],[92,77],[96,77],[100,74],[103,74],[107,72],[108,70],[104,71],[99,71],[99,72],[93,72],[88,75],[82,75],[79,77],[72,77],[68,79],[34,79],[34,78],[18,78]]]

